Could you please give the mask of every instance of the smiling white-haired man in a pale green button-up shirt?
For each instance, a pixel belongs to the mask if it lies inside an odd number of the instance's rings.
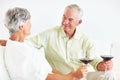
[[[93,74],[96,74],[95,76],[100,76],[99,73],[104,75],[105,70],[112,69],[112,60],[102,61],[94,50],[94,44],[78,28],[82,23],[82,15],[83,11],[78,5],[68,5],[64,10],[60,26],[38,33],[28,40],[38,49],[43,47],[46,59],[52,68],[63,74],[76,71],[83,64],[79,59],[82,58],[82,55],[86,55],[86,58],[94,59],[90,64],[96,71],[100,71]],[[94,78],[94,76],[92,77]],[[96,78],[91,80],[97,80]]]

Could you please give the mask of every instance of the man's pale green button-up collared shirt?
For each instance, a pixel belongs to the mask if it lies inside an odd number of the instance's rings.
[[[94,58],[94,61],[91,62],[94,68],[101,61],[95,55],[94,45],[79,28],[76,29],[71,39],[66,37],[60,26],[57,26],[39,33],[28,40],[38,49],[43,47],[46,58],[52,68],[64,74],[77,70],[82,65],[79,59],[83,52],[86,52],[87,57]]]

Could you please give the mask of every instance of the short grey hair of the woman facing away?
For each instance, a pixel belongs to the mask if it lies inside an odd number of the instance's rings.
[[[31,15],[27,9],[15,7],[6,12],[4,24],[11,34],[15,33],[19,26],[25,24],[30,18]]]

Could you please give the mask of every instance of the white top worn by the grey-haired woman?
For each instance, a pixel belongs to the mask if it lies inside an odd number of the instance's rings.
[[[8,40],[5,62],[12,80],[45,80],[52,68],[31,44]]]

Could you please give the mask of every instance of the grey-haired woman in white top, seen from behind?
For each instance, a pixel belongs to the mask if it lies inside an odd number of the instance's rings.
[[[87,74],[83,70],[70,72],[67,75],[52,70],[44,55],[24,39],[30,34],[30,13],[24,8],[9,9],[5,15],[5,26],[10,33],[5,47],[5,66],[10,80],[79,80]],[[82,76],[78,74],[81,73]]]

